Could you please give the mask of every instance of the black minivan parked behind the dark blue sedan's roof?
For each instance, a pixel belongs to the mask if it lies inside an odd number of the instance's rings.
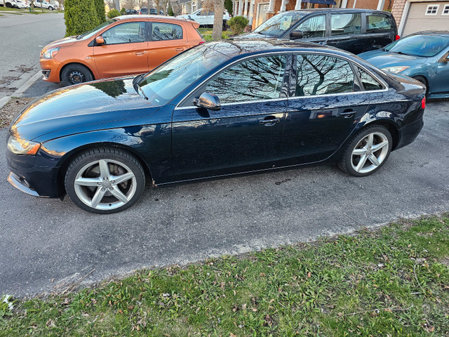
[[[302,39],[362,53],[399,39],[393,15],[384,11],[315,8],[274,15],[240,39]]]

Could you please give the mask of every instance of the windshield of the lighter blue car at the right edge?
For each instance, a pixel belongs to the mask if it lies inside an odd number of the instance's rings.
[[[385,47],[385,51],[431,58],[447,46],[449,46],[449,37],[441,35],[412,35],[394,41]]]

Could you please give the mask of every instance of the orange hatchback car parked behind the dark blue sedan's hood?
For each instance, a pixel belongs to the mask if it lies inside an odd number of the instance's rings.
[[[41,51],[43,79],[65,85],[142,74],[202,44],[198,22],[156,15],[124,15]]]

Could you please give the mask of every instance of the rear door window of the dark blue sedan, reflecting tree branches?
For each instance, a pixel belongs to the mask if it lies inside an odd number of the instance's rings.
[[[296,96],[350,93],[354,72],[345,60],[323,55],[297,55]]]

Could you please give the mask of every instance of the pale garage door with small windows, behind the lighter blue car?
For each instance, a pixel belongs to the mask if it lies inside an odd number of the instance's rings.
[[[421,30],[449,30],[449,1],[410,3],[402,36]]]

